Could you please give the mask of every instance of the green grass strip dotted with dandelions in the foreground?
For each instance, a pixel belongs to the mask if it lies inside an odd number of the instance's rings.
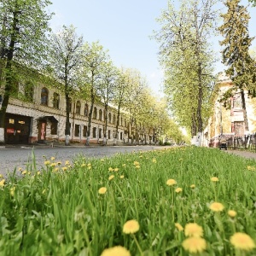
[[[139,247],[143,255],[189,255],[182,246],[184,232],[175,223],[194,222],[207,241],[201,255],[256,255],[255,249],[242,254],[230,244],[235,232],[256,241],[256,172],[247,170],[256,166],[254,160],[188,147],[103,160],[78,156],[64,171],[65,163],[52,164],[57,161],[49,160],[44,170],[33,163],[24,177],[10,176],[0,187],[0,255],[95,256],[116,245],[131,255],[140,255]],[[170,178],[177,184],[167,186]],[[98,193],[102,187],[104,195]],[[183,191],[175,192],[178,187]],[[224,211],[212,212],[214,201]],[[236,218],[229,217],[230,209]],[[122,231],[130,219],[140,225],[136,240]]]

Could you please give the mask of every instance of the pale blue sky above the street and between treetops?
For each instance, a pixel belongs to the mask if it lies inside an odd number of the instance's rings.
[[[162,79],[158,61],[159,44],[150,38],[154,30],[160,30],[156,18],[167,8],[167,0],[51,0],[49,11],[55,15],[51,27],[57,31],[61,26],[73,25],[84,41],[99,41],[116,67],[136,68],[146,77],[154,94],[162,95]],[[178,2],[177,0],[173,2]],[[241,0],[247,5],[247,0]],[[256,7],[248,8],[252,19],[250,36],[256,36]],[[213,48],[217,52],[216,38]],[[256,39],[253,41],[256,48]],[[218,55],[218,53],[217,53]],[[224,66],[216,64],[216,73]]]

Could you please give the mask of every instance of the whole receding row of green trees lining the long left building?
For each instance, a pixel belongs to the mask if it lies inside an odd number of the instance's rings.
[[[132,127],[142,123],[162,126],[168,137],[181,139],[181,132],[166,112],[166,103],[152,96],[147,81],[134,69],[117,68],[99,42],[84,42],[73,26],[51,32],[53,14],[45,9],[46,0],[3,0],[0,3],[1,24],[1,87],[0,141],[4,142],[5,113],[15,81],[42,81],[58,88],[66,98],[66,145],[69,144],[70,99],[84,98],[90,102],[87,142],[93,108],[101,102],[105,108],[104,143],[107,140],[108,108],[117,108],[115,137],[119,130],[120,112],[130,119]],[[27,67],[29,69],[27,70]],[[25,72],[26,69],[26,72]],[[33,83],[32,83],[33,84]],[[175,132],[175,133],[174,133]]]

